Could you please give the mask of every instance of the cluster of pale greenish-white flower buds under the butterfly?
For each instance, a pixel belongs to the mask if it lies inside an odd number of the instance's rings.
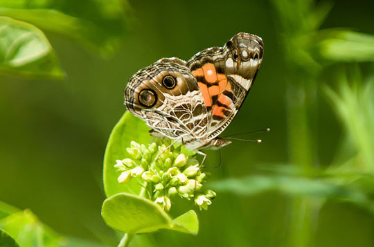
[[[118,183],[127,183],[132,178],[143,180],[150,188],[154,203],[167,211],[171,208],[170,198],[175,195],[193,199],[200,210],[207,210],[211,205],[215,192],[202,191],[206,174],[199,169],[199,162],[192,157],[194,154],[184,152],[182,146],[167,149],[166,144],[152,143],[146,147],[132,141],[126,150],[131,158],[117,160],[114,165],[121,172]]]

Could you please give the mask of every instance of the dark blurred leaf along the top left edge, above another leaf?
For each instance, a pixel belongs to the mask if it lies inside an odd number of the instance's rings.
[[[26,5],[19,1],[1,0],[0,5],[0,15],[70,37],[105,57],[118,50],[125,36],[126,1],[87,0],[63,4],[31,1]]]

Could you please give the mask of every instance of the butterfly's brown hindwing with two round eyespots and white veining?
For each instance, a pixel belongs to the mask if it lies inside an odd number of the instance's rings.
[[[195,140],[207,130],[202,94],[186,62],[164,58],[141,69],[125,89],[125,105],[145,120],[151,134]]]

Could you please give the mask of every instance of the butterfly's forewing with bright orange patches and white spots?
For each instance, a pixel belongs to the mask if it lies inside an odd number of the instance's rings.
[[[206,139],[218,136],[240,109],[263,56],[262,39],[238,33],[224,47],[208,48],[188,60],[208,114]]]

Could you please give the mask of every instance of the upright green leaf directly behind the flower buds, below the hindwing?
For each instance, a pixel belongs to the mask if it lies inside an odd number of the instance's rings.
[[[107,197],[121,192],[140,193],[142,185],[137,178],[132,178],[127,183],[118,183],[117,178],[120,173],[116,171],[114,165],[118,159],[130,158],[126,147],[130,147],[132,140],[145,145],[150,142],[151,136],[148,134],[148,130],[149,128],[143,120],[136,118],[128,111],[123,114],[114,127],[109,136],[104,156],[104,188]]]

